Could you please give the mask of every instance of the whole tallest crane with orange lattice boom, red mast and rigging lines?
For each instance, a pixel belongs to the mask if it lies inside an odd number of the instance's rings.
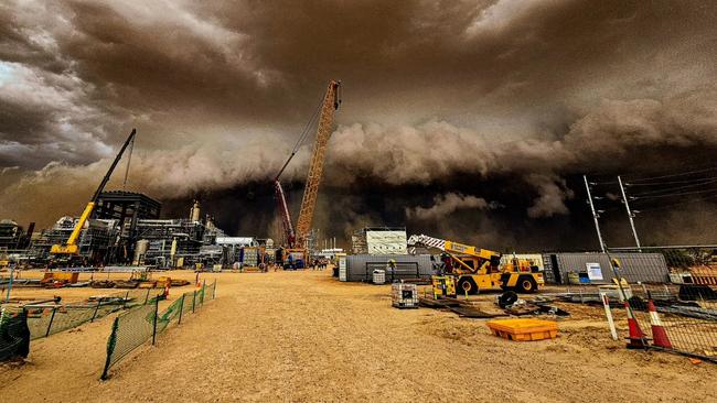
[[[286,247],[283,249],[283,262],[287,266],[290,260],[292,269],[304,268],[309,262],[308,240],[311,232],[311,224],[313,221],[313,210],[317,205],[317,196],[319,194],[319,185],[323,176],[323,163],[327,155],[327,145],[331,138],[331,129],[333,126],[334,112],[341,105],[341,81],[331,80],[323,100],[319,106],[319,110],[314,113],[313,118],[307,124],[307,128],[301,133],[297,141],[291,155],[283,163],[281,170],[274,179],[274,188],[277,198],[277,207],[281,217],[281,226],[286,238]],[[311,153],[311,163],[309,165],[309,174],[307,176],[307,184],[303,190],[303,198],[301,199],[301,209],[299,210],[299,219],[297,220],[296,231],[291,224],[291,214],[287,204],[286,194],[279,181],[281,174],[286,170],[289,162],[293,159],[299,151],[301,144],[307,139],[309,128],[312,126],[317,115],[319,116],[319,123],[317,128],[317,139],[313,143],[313,151]]]

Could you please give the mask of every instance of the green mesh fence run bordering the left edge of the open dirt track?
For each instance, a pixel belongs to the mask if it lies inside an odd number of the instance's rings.
[[[129,352],[154,339],[172,323],[181,323],[186,315],[199,311],[204,302],[214,299],[216,281],[204,284],[200,290],[182,294],[164,311],[159,312],[159,301],[135,307],[118,317],[113,323],[113,331],[107,340],[107,359],[101,379],[109,377],[109,369]]]

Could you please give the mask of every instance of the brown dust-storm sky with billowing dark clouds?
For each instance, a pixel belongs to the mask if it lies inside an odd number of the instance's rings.
[[[78,214],[133,127],[135,190],[181,200],[266,181],[341,79],[325,184],[344,210],[371,188],[420,188],[393,221],[559,231],[585,215],[576,175],[714,163],[715,21],[709,1],[3,0],[0,216]],[[694,206],[715,222],[714,203]]]

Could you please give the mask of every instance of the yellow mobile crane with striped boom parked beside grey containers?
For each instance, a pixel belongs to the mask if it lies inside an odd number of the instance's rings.
[[[534,293],[545,284],[543,273],[529,262],[513,259],[501,265],[501,253],[425,235],[411,236],[408,246],[425,246],[442,252],[443,271],[456,276],[459,294],[513,290]]]

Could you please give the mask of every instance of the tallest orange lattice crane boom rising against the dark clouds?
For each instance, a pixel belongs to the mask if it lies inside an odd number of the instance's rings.
[[[303,198],[301,199],[299,219],[297,220],[297,242],[302,247],[311,231],[313,210],[317,205],[317,196],[319,195],[319,185],[321,184],[321,178],[323,176],[323,163],[327,155],[327,145],[331,138],[333,117],[335,110],[339,109],[339,105],[341,104],[340,89],[341,81],[331,80],[321,106],[321,117],[319,118],[319,126],[317,129],[317,140],[311,153],[309,175],[307,176],[307,185],[303,190]]]

